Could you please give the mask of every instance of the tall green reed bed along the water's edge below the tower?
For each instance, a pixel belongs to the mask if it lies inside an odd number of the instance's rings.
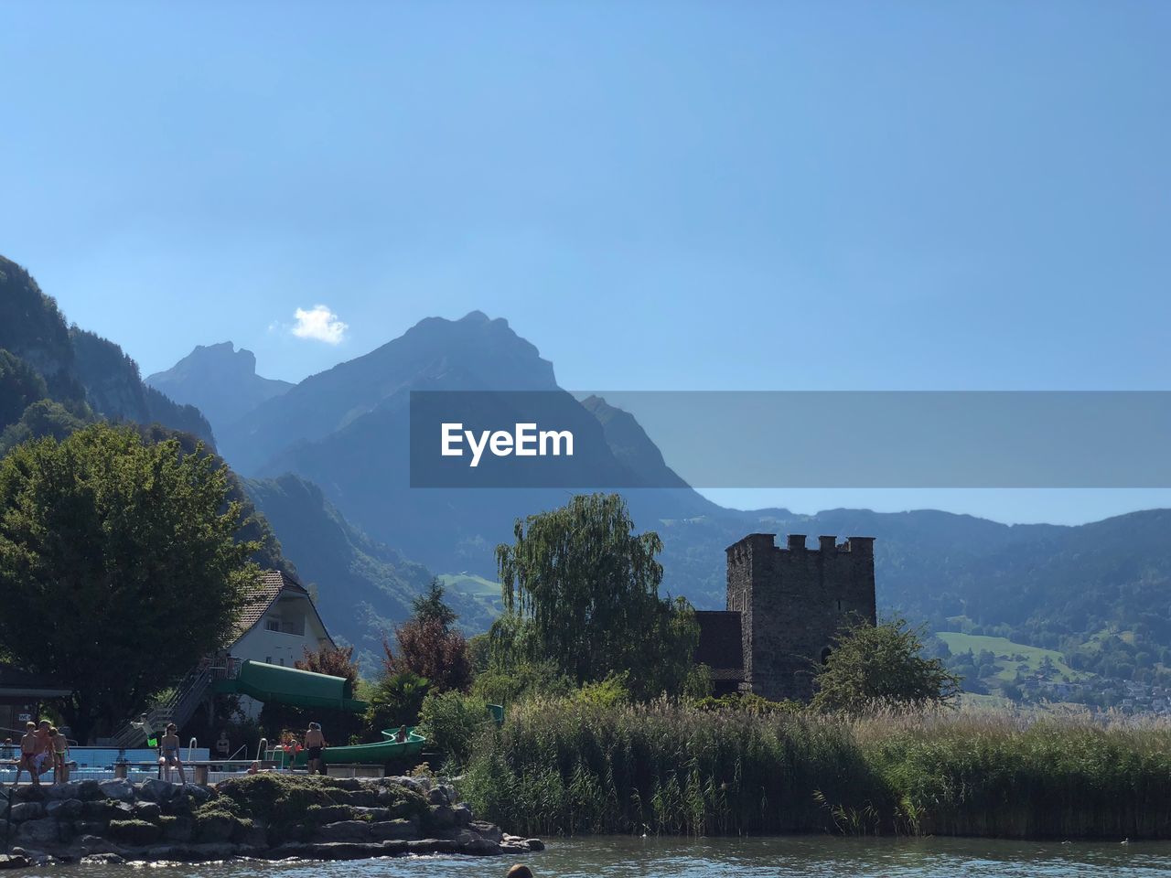
[[[1171,723],[537,700],[477,742],[464,793],[540,835],[1171,838]]]

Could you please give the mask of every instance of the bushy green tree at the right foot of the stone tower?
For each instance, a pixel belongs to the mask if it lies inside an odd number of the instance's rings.
[[[815,671],[813,707],[863,713],[951,701],[960,692],[960,678],[940,659],[924,658],[922,652],[923,629],[910,627],[903,618],[881,625],[869,619],[848,622],[838,632],[837,647]]]

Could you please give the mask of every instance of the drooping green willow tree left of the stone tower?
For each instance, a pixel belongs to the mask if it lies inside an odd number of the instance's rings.
[[[636,534],[618,494],[577,495],[516,521],[497,547],[505,616],[497,654],[552,661],[578,684],[629,672],[639,694],[677,692],[699,639],[686,601],[659,597],[658,534]]]

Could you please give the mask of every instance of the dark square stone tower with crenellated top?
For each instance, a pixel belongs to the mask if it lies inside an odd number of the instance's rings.
[[[727,609],[740,612],[744,682],[765,698],[802,701],[813,697],[813,663],[834,649],[840,625],[851,613],[875,622],[872,536],[834,536],[806,548],[803,534],[788,544],[775,534],[748,534],[727,548]]]

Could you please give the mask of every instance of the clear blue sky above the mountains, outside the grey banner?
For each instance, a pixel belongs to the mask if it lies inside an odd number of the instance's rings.
[[[9,1],[0,253],[144,373],[480,309],[568,389],[1166,389],[1169,44],[1158,0]],[[1171,505],[802,496],[719,499]]]

